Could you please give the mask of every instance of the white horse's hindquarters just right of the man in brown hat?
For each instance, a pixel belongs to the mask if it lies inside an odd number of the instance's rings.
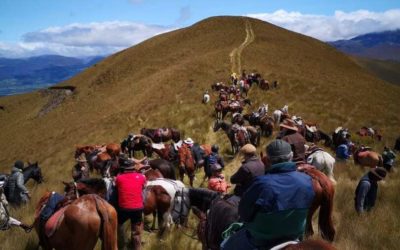
[[[308,146],[305,145],[306,150]],[[333,168],[335,167],[336,160],[332,155],[324,150],[316,150],[307,156],[306,162],[313,165],[319,171],[324,173],[336,185],[336,180],[333,176]]]

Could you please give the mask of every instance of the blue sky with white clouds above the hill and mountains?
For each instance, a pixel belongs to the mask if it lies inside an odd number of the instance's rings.
[[[399,0],[0,0],[0,57],[109,55],[221,15],[321,41],[400,29]]]

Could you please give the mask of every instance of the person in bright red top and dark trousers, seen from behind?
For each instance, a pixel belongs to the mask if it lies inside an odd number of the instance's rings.
[[[123,159],[121,167],[124,172],[118,175],[115,180],[115,188],[118,196],[119,245],[122,245],[124,241],[123,224],[127,220],[130,220],[133,249],[141,249],[144,208],[142,191],[146,184],[146,177],[139,172],[140,165],[135,164],[131,159]]]

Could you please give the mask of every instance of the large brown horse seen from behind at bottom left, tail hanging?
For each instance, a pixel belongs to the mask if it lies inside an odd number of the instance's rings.
[[[102,240],[102,249],[118,248],[117,212],[95,194],[84,195],[57,211],[53,215],[59,216],[56,219],[56,229],[52,235],[47,236],[45,230],[40,228],[39,215],[50,195],[47,192],[42,196],[35,211],[34,226],[43,249],[91,250],[96,246],[98,238]]]

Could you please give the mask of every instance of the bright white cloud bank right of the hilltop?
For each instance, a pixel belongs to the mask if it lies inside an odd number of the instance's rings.
[[[302,14],[278,10],[273,13],[247,14],[288,30],[322,41],[349,39],[358,35],[400,28],[400,9],[385,12],[357,10],[335,11],[332,16]]]

